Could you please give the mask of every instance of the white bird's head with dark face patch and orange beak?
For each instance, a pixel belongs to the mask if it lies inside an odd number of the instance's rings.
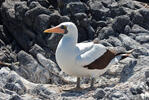
[[[46,29],[44,33],[60,33],[64,35],[71,35],[77,33],[77,27],[72,22],[63,22],[53,28]]]

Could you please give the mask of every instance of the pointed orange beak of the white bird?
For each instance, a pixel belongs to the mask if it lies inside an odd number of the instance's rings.
[[[56,26],[56,27],[53,27],[53,28],[49,28],[49,29],[44,30],[44,33],[61,33],[61,34],[64,34],[65,33],[65,30],[64,29],[61,29],[58,26]]]

